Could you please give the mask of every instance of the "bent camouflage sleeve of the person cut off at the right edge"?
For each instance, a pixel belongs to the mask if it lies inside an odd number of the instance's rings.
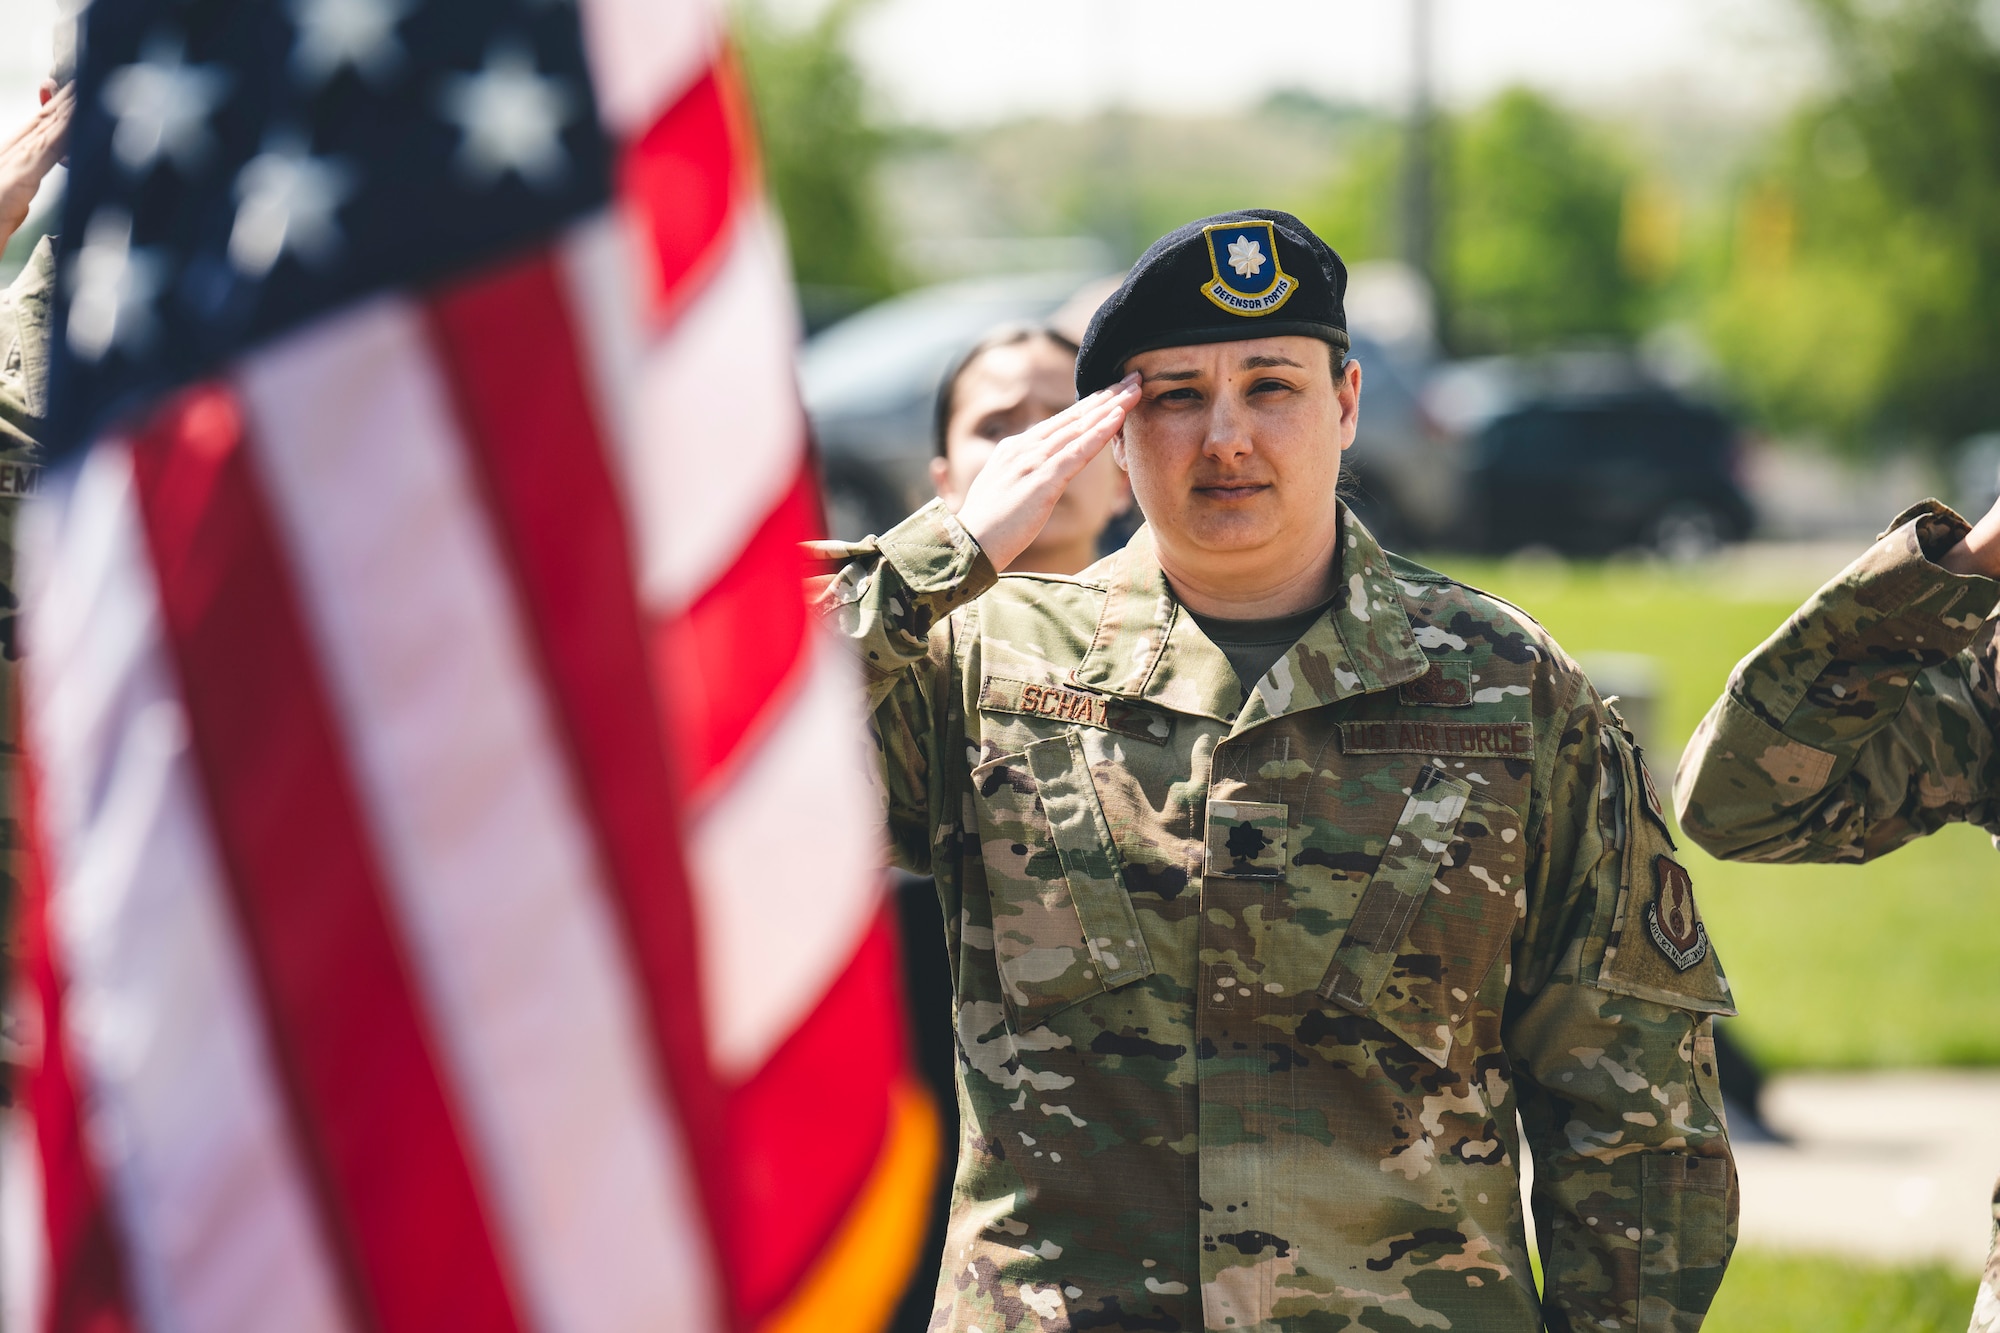
[[[1964,518],[1904,510],[1730,675],[1682,759],[1680,825],[1736,861],[1868,861],[1948,823],[2000,835],[2000,582],[1936,560]]]

